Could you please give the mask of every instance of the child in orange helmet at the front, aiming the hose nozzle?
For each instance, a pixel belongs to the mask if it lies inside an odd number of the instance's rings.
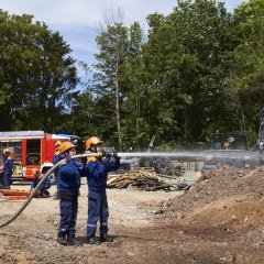
[[[97,222],[100,220],[100,242],[112,242],[108,235],[109,208],[107,200],[108,172],[116,170],[120,166],[119,157],[105,157],[100,139],[92,136],[86,141],[86,150],[90,153],[98,153],[101,157],[87,158],[88,180],[88,220],[87,241],[90,244],[98,244],[96,240]]]

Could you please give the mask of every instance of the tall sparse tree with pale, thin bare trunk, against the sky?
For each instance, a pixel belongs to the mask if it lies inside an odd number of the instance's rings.
[[[125,52],[128,48],[128,30],[122,23],[107,25],[106,31],[97,37],[99,54],[96,54],[98,63],[95,65],[96,74],[92,91],[98,97],[98,102],[105,109],[102,122],[109,125],[109,135],[114,138],[122,148],[121,134],[121,108],[120,102],[123,95],[123,77]],[[110,122],[109,122],[110,121]],[[116,128],[112,128],[116,123]]]

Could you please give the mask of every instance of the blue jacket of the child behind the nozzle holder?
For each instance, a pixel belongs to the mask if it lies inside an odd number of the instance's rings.
[[[80,187],[80,172],[74,161],[61,165],[58,168],[58,187],[59,190],[75,191]]]

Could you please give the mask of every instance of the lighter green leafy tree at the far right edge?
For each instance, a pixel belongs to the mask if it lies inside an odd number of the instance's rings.
[[[251,0],[233,13],[237,46],[228,82],[233,120],[255,145],[260,109],[264,101],[264,2]]]

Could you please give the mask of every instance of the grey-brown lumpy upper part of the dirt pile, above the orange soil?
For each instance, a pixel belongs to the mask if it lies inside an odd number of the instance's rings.
[[[216,170],[202,173],[188,193],[161,202],[161,207],[164,215],[186,218],[198,210],[206,213],[210,205],[224,208],[227,200],[243,205],[263,198],[264,166],[248,170],[222,165]]]

